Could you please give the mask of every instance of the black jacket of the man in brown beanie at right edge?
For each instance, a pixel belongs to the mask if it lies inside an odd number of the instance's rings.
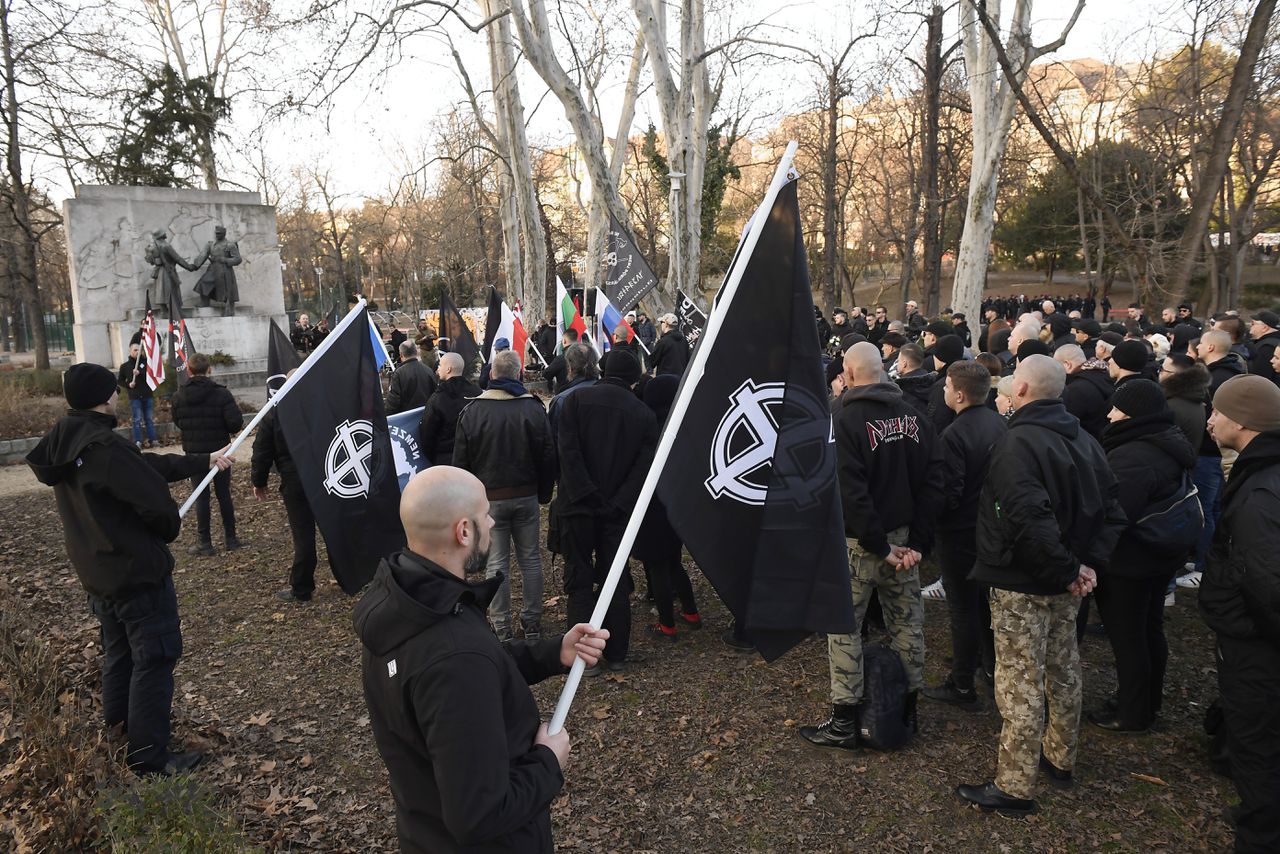
[[[1265,640],[1280,656],[1280,430],[1254,437],[1231,466],[1199,608],[1208,627]]]

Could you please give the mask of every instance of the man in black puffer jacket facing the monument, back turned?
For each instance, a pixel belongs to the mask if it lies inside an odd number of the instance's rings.
[[[244,415],[239,403],[224,387],[214,382],[212,364],[205,353],[195,353],[188,362],[191,382],[180,387],[173,396],[173,423],[182,430],[182,449],[187,453],[211,453],[227,446],[232,437],[244,425]],[[204,474],[191,479],[195,489],[204,480]],[[219,471],[210,487],[218,495],[218,510],[223,517],[223,535],[227,538],[227,551],[234,552],[243,544],[236,536],[236,506],[232,504],[230,469]],[[210,531],[209,489],[196,498],[196,522],[200,542],[192,554],[209,557],[214,554],[212,533]]]

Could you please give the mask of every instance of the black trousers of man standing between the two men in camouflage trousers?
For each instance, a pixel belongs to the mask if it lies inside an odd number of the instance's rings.
[[[940,530],[937,549],[951,616],[951,680],[956,688],[970,689],[979,663],[988,672],[996,666],[987,585],[969,580],[978,556],[977,530]]]

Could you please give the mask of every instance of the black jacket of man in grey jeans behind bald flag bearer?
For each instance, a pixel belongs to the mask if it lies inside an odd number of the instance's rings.
[[[479,478],[489,501],[538,495],[545,504],[556,488],[547,407],[497,385],[468,401],[453,435],[453,465]]]

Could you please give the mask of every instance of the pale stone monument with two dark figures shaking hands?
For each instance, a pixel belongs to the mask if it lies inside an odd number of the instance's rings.
[[[288,321],[275,209],[257,193],[77,187],[63,202],[63,222],[77,361],[124,361],[148,289],[166,329],[175,280],[192,347],[236,359],[219,369],[220,382],[265,378],[270,320],[283,329]]]

